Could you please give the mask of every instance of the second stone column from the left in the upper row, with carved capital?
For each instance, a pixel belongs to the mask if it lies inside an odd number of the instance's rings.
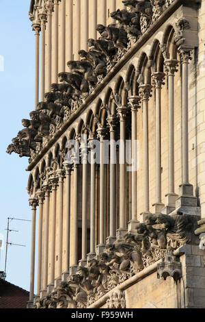
[[[39,14],[40,27],[41,27],[41,62],[40,62],[40,100],[44,101],[45,94],[45,32],[46,32],[46,11],[42,8],[42,12]]]

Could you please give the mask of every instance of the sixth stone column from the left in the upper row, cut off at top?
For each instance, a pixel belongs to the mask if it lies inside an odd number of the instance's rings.
[[[73,60],[73,5],[72,5],[72,0],[66,0],[66,5],[68,3],[68,18],[67,18],[67,23],[68,23],[68,43],[66,45],[68,46],[68,57],[66,57],[66,60],[70,61]]]

